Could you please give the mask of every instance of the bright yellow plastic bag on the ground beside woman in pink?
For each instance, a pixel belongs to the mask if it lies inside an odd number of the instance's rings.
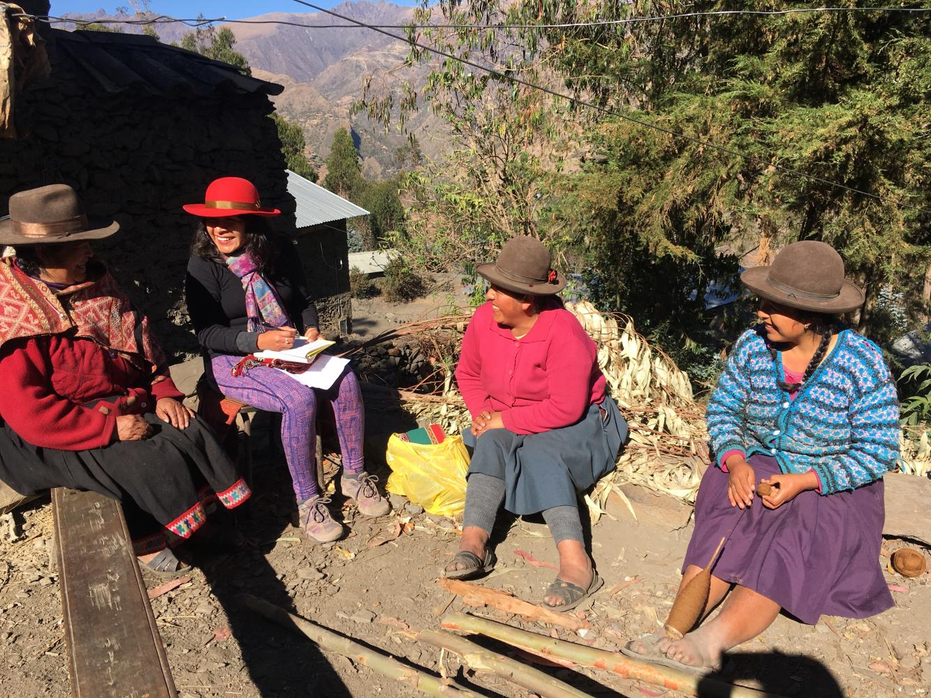
[[[455,517],[466,508],[468,451],[462,436],[447,436],[439,444],[414,444],[392,434],[385,460],[391,468],[389,492],[436,516]]]

